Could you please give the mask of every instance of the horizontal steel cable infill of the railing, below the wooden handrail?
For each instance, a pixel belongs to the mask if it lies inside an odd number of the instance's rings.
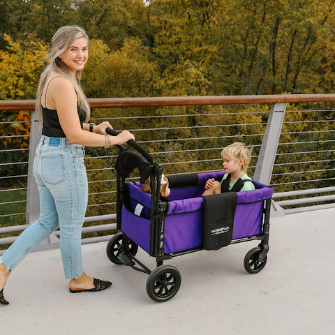
[[[335,97],[334,97],[335,99]],[[159,107],[153,109],[150,107],[153,113],[161,113]],[[166,110],[166,109],[165,109]],[[210,110],[210,109],[209,109]],[[207,110],[207,112],[209,111]],[[234,111],[234,110],[237,110]],[[249,107],[248,110],[251,110]],[[298,111],[288,111],[286,115],[298,114],[311,114],[311,113],[332,113],[333,110],[298,110]],[[132,112],[133,116],[126,117],[110,117],[109,113],[106,113],[105,118],[92,118],[92,121],[110,121],[114,128],[115,125],[119,129],[130,129],[135,133],[137,142],[144,147],[144,149],[150,149],[151,156],[153,156],[156,161],[160,163],[165,168],[165,174],[186,174],[189,172],[201,173],[209,171],[221,170],[221,158],[220,151],[223,146],[234,142],[235,140],[245,141],[248,145],[253,146],[253,158],[251,165],[249,165],[248,174],[253,175],[256,168],[256,161],[260,149],[262,147],[262,140],[265,135],[265,126],[267,125],[267,118],[269,117],[269,111],[260,111],[259,106],[255,106],[252,112],[243,112],[243,108],[234,108],[232,106],[231,112],[208,112],[207,113],[190,113],[190,114],[169,114],[169,115],[137,115],[138,113]],[[94,112],[92,113],[94,117]],[[324,115],[323,115],[324,116]],[[164,120],[174,119],[174,124],[172,126],[166,126],[163,124]],[[177,120],[177,121],[176,121]],[[197,121],[198,124],[187,124],[187,122]],[[214,121],[213,121],[214,120]],[[135,127],[134,127],[135,121]],[[142,121],[145,121],[145,127],[136,128],[142,126]],[[207,122],[207,124],[205,123]],[[220,121],[220,122],[218,122]],[[215,123],[216,124],[213,124]],[[15,122],[11,122],[13,124]],[[27,121],[22,121],[22,123],[27,124]],[[5,126],[6,122],[1,122],[0,125]],[[163,124],[163,126],[161,126]],[[305,128],[303,130],[299,129],[298,126],[303,125]],[[322,129],[326,127],[327,129]],[[308,129],[306,127],[309,127]],[[298,127],[297,129],[290,129],[292,127]],[[312,128],[311,128],[312,127]],[[314,128],[313,128],[314,127]],[[297,131],[296,131],[297,130]],[[332,166],[327,166],[327,168],[316,168],[304,170],[305,165],[320,165],[324,164],[334,164],[334,159],[329,155],[334,155],[334,149],[322,148],[323,145],[332,145],[335,142],[335,128],[334,128],[334,117],[332,119],[306,119],[306,117],[301,118],[301,120],[286,119],[283,121],[283,131],[281,132],[281,140],[278,143],[278,151],[276,153],[276,161],[274,162],[274,172],[271,177],[271,185],[274,186],[274,192],[281,195],[281,203],[283,201],[288,202],[285,204],[288,208],[290,206],[290,200],[287,200],[288,195],[292,192],[299,192],[297,189],[304,188],[301,184],[308,184],[308,189],[313,188],[311,184],[315,184],[317,188],[324,182],[334,181],[334,168]],[[208,134],[209,133],[209,134]],[[312,139],[315,135],[322,136],[319,139]],[[298,140],[301,142],[290,142],[288,139],[291,137],[299,137]],[[325,138],[325,136],[327,138]],[[304,138],[303,138],[304,137]],[[305,138],[308,137],[308,138]],[[316,136],[318,137],[318,136]],[[29,135],[3,135],[1,136],[3,140],[26,140]],[[288,147],[288,148],[285,148]],[[306,150],[300,151],[297,149],[298,146],[310,147],[318,146],[317,150]],[[296,148],[296,149],[294,149]],[[306,149],[306,148],[303,148]],[[17,154],[20,151],[28,152],[28,148],[11,148],[11,149],[0,149],[0,155],[6,156],[6,154]],[[290,151],[290,152],[288,152]],[[299,155],[308,155],[308,159],[297,159]],[[328,155],[324,158],[313,158],[311,156],[315,155]],[[184,158],[184,159],[183,159]],[[186,158],[186,159],[185,159]],[[87,156],[85,157],[85,163],[87,164],[87,173],[89,177],[89,207],[87,210],[87,218],[85,221],[87,223],[94,222],[92,220],[98,221],[98,218],[111,220],[115,213],[115,196],[116,196],[116,174],[114,170],[114,162],[117,159],[117,154],[111,154],[110,151],[105,151],[103,149],[90,149],[87,148]],[[283,161],[286,159],[286,161]],[[292,161],[291,161],[292,160]],[[29,162],[0,162],[0,170],[3,168],[8,168],[13,165],[13,168],[18,168],[22,165],[27,165]],[[300,166],[295,171],[290,171],[290,168],[296,168]],[[284,170],[287,171],[278,171]],[[20,169],[19,169],[20,170]],[[21,169],[22,170],[22,169]],[[1,170],[2,171],[2,170]],[[326,174],[332,175],[326,175]],[[301,175],[315,174],[316,178],[311,178],[310,180],[301,180]],[[296,176],[300,176],[299,180]],[[332,177],[333,176],[333,177]],[[25,196],[24,193],[27,191],[27,177],[28,174],[19,173],[15,175],[0,175],[0,209],[8,205],[13,206],[24,205],[27,200],[13,200],[7,201],[8,192],[17,193],[22,192],[21,196]],[[292,177],[295,177],[294,180]],[[15,181],[14,179],[18,179]],[[15,188],[4,187],[8,180],[13,181]],[[136,172],[132,174],[129,178],[131,181],[138,180],[138,175]],[[6,189],[7,188],[7,189]],[[283,191],[285,189],[285,191]],[[302,190],[304,197],[308,194],[308,189]],[[323,188],[320,188],[323,189]],[[334,192],[331,188],[325,188],[324,192]],[[6,195],[5,195],[6,193]],[[2,194],[2,197],[1,197]],[[295,194],[295,193],[293,193]],[[311,194],[311,193],[309,193]],[[314,197],[315,198],[315,197]],[[329,198],[318,197],[320,201],[325,199],[326,202]],[[308,201],[308,200],[307,200]],[[315,202],[315,199],[311,199],[311,202]],[[285,203],[284,202],[284,203]],[[299,204],[300,205],[300,204]],[[17,224],[17,216],[22,216],[20,219],[20,225],[24,225],[24,214],[26,214],[26,209],[22,211],[15,211],[15,214],[5,213],[0,210],[0,220],[4,218],[10,218],[10,220]],[[0,222],[0,224],[3,223]],[[113,225],[106,225],[107,229],[114,227]],[[89,228],[89,227],[87,227]],[[2,228],[0,228],[0,233],[2,233]],[[104,228],[96,228],[96,230],[103,230]],[[17,228],[13,227],[13,231]],[[96,231],[95,228],[89,228],[87,232]],[[8,232],[8,230],[6,230]],[[1,242],[0,242],[1,243]]]

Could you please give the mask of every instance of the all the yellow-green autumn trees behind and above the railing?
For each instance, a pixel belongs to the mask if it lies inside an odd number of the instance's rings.
[[[0,99],[35,98],[50,38],[64,24],[78,24],[89,34],[89,61],[82,75],[89,98],[333,93],[334,6],[334,0],[0,1]],[[303,107],[311,106],[288,108]],[[311,121],[334,120],[334,112],[329,105],[316,107],[324,112],[286,114],[271,181],[283,184],[275,186],[277,192],[332,184],[334,151],[332,142],[325,141],[334,141],[334,122]],[[234,140],[254,145],[257,156],[268,109],[115,108],[93,110],[91,119],[132,130],[147,151],[158,153],[156,160],[170,174],[220,170],[220,148]],[[1,120],[10,122],[0,124],[1,135],[29,134],[29,113],[1,112]],[[0,149],[28,145],[28,137],[4,137]],[[290,154],[295,150],[306,154]],[[89,204],[107,204],[89,207],[88,215],[115,212],[110,204],[115,154],[87,148]],[[97,158],[105,155],[110,157]],[[3,151],[0,158],[1,163],[27,161],[27,151]],[[294,174],[297,170],[313,172]],[[1,165],[0,172],[27,174],[27,166]],[[306,183],[318,178],[326,180]],[[14,181],[20,183],[24,180]]]

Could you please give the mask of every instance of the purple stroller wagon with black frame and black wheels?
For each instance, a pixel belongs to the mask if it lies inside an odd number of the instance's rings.
[[[232,204],[230,199],[228,202],[222,202],[226,201],[225,198],[218,198],[217,195],[201,196],[207,179],[221,181],[224,172],[177,174],[168,176],[171,193],[168,198],[163,198],[159,192],[163,168],[135,141],[129,141],[128,144],[147,161],[149,170],[144,170],[151,177],[151,194],[142,191],[140,182],[126,182],[125,175],[137,165],[133,160],[133,166],[126,174],[122,175],[117,169],[117,229],[121,232],[115,234],[108,242],[107,257],[114,264],[128,265],[148,274],[146,289],[151,299],[158,302],[167,301],[174,297],[180,288],[181,274],[176,267],[163,265],[165,260],[211,249],[208,247],[211,238],[229,235],[225,234],[228,232],[228,223],[232,224],[230,237],[224,244],[216,245],[215,241],[212,249],[243,241],[260,240],[260,244],[246,254],[244,268],[248,273],[256,274],[265,267],[269,251],[272,188],[253,181],[255,191],[229,192],[234,193],[229,195],[234,202]],[[118,148],[120,158],[126,149],[122,146]],[[140,170],[140,167],[138,168]],[[142,172],[144,170],[142,169]],[[146,175],[144,179],[147,177]],[[206,204],[207,199],[205,202],[204,198],[209,197],[214,200],[214,208],[218,208],[216,216],[229,216],[229,213],[232,216],[218,220],[219,228],[207,226],[211,221],[209,214],[213,207],[209,207]],[[156,269],[151,271],[135,258],[138,246],[156,258]]]

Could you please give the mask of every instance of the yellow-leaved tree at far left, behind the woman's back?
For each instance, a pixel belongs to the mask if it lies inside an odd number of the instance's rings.
[[[8,43],[8,51],[0,50],[0,98],[2,100],[34,99],[38,86],[40,72],[45,64],[43,59],[47,55],[47,45],[36,39],[36,36],[25,36],[25,40],[13,40],[4,35]],[[29,147],[29,112],[1,112],[1,120],[10,124],[1,124],[0,149],[24,149]],[[25,122],[27,121],[27,122]],[[15,137],[27,135],[27,137]],[[1,153],[1,162],[11,163],[27,160],[28,151],[9,151]],[[3,165],[2,176],[20,175],[27,173],[26,165]],[[9,179],[8,179],[9,181]],[[15,181],[17,182],[17,181]]]

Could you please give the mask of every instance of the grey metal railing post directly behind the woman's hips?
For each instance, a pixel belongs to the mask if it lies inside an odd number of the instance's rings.
[[[38,121],[37,112],[31,111],[30,139],[29,139],[29,163],[28,163],[28,181],[27,181],[27,225],[34,223],[40,214],[40,198],[37,184],[34,178],[33,165],[36,148],[40,142],[42,131]]]

